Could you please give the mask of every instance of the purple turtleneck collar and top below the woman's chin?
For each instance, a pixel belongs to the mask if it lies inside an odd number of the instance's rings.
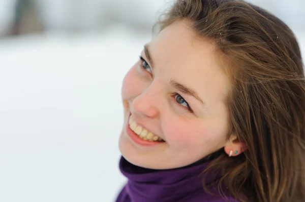
[[[225,202],[230,197],[209,195],[203,189],[200,174],[209,162],[170,170],[151,170],[135,166],[121,157],[119,168],[128,182],[116,202]],[[210,174],[205,183],[217,180]]]

